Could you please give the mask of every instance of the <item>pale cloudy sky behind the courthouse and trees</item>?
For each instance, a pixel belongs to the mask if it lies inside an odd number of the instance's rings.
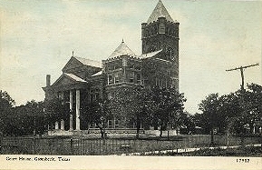
[[[74,55],[101,61],[122,38],[141,55],[141,23],[159,0],[0,1],[0,89],[16,105],[44,100],[45,75],[53,83]],[[262,1],[162,0],[180,22],[180,93],[185,110],[200,113],[212,93],[262,85]]]

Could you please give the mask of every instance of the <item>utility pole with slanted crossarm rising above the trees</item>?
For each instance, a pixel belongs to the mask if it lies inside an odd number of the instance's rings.
[[[234,71],[234,70],[240,70],[240,74],[241,74],[241,88],[240,88],[240,93],[241,93],[241,106],[242,106],[242,112],[243,114],[246,113],[246,108],[245,108],[245,101],[244,101],[244,94],[245,94],[245,88],[244,88],[244,69],[245,68],[248,68],[248,67],[251,67],[251,66],[257,66],[259,65],[259,63],[255,64],[255,65],[246,65],[246,66],[239,66],[237,68],[232,68],[232,69],[228,69],[226,70],[227,72],[228,71]],[[244,125],[242,125],[241,127],[241,145],[244,146]],[[229,135],[229,129],[228,129],[228,135]]]

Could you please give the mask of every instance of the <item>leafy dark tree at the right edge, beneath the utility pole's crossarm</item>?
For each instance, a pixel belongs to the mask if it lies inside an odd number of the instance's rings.
[[[219,100],[220,115],[225,117],[228,128],[235,127],[235,133],[245,133],[245,125],[250,127],[249,133],[252,133],[255,123],[261,121],[261,85],[247,85],[247,90],[222,95]]]

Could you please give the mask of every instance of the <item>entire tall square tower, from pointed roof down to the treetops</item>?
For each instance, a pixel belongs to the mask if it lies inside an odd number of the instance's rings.
[[[150,72],[154,73],[153,75],[145,75],[156,79],[151,85],[174,87],[179,91],[179,26],[180,23],[171,18],[161,1],[154,8],[147,23],[141,24],[142,55],[157,54],[152,58],[161,61],[154,64]],[[158,71],[153,71],[156,65],[159,65]],[[167,83],[162,85],[159,82]]]

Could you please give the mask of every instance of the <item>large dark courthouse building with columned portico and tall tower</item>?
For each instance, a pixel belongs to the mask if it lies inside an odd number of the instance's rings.
[[[135,55],[123,41],[107,59],[92,61],[72,56],[63,74],[50,84],[46,76],[45,99],[59,96],[75,115],[55,123],[55,129],[85,130],[81,120],[82,101],[114,96],[119,88],[144,86],[175,87],[179,91],[179,25],[161,1],[146,23],[141,24],[141,55]],[[124,119],[108,121],[108,128],[131,128]],[[92,125],[95,127],[95,125]]]

